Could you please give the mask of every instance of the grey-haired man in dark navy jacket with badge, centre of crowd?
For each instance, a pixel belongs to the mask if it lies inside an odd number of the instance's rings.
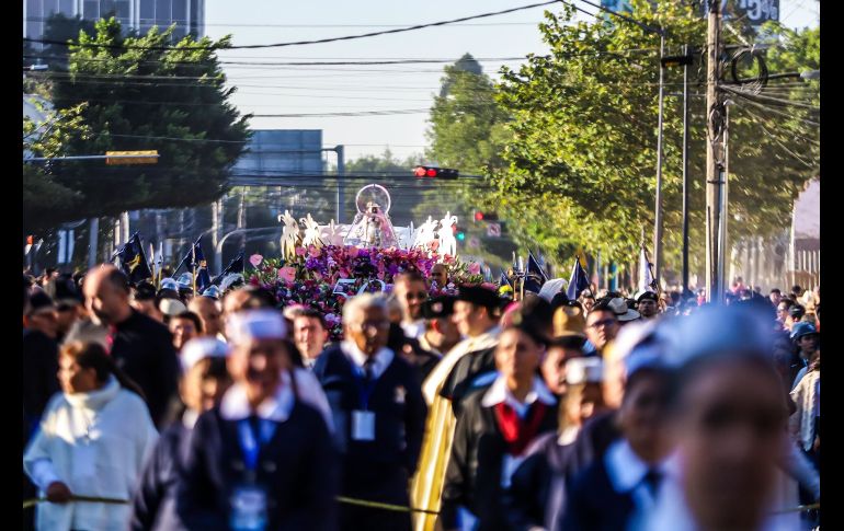
[[[320,355],[313,374],[331,405],[342,455],[342,495],[409,505],[427,408],[415,369],[387,348],[384,297],[343,307],[345,339]],[[341,529],[410,529],[410,513],[342,504]]]

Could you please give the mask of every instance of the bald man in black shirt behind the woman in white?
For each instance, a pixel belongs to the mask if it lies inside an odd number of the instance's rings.
[[[109,327],[106,348],[144,391],[149,414],[161,426],[179,383],[170,331],[129,305],[128,278],[112,265],[91,269],[83,291],[91,320]]]

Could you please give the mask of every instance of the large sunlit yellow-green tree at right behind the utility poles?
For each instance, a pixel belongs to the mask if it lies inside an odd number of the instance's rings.
[[[668,31],[668,55],[678,54],[683,44],[703,49],[706,22],[692,7],[655,3],[657,9],[632,2],[631,16]],[[650,243],[653,227],[659,36],[619,20],[572,23],[573,15],[568,5],[559,15],[547,12],[540,32],[550,54],[528,56],[517,71],[503,69],[498,96],[513,117],[507,124],[513,139],[504,151],[507,166],[490,178],[494,191],[487,198],[520,220],[513,227],[518,241],[538,243],[557,261],[582,246],[605,261],[629,262],[642,231]],[[738,43],[730,38],[728,44]],[[672,93],[682,86],[682,70],[669,69],[665,78],[662,194],[671,266],[681,250],[682,107]],[[707,113],[705,80],[697,81],[691,105],[691,227],[693,267],[702,268]],[[788,146],[798,154],[806,153],[817,130],[801,127],[801,135],[808,141],[791,139]],[[739,216],[730,222],[731,234],[763,235],[789,223],[791,200],[817,171],[817,160],[807,169],[779,143],[759,120],[731,111],[730,209]]]

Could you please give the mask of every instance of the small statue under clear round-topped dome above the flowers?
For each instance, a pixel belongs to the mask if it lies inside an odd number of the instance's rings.
[[[389,217],[390,205],[390,195],[383,186],[369,184],[361,188],[355,196],[357,213],[343,244],[398,247],[399,241]]]

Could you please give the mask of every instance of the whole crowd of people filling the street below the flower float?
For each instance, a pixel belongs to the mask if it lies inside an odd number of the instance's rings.
[[[820,500],[820,289],[432,296],[447,275],[349,299],[337,343],[237,274],[24,275],[24,524],[819,524],[792,509]]]

